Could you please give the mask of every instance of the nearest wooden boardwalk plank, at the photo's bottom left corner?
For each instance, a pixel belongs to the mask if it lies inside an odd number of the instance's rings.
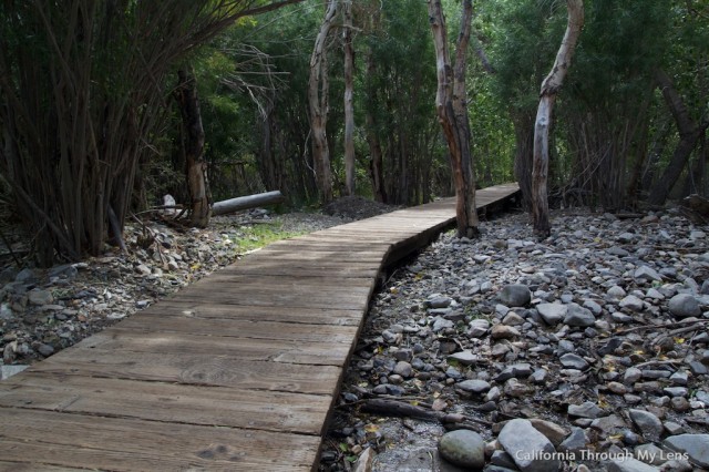
[[[0,409],[2,460],[111,471],[309,471],[320,438]],[[285,452],[287,451],[287,453]]]

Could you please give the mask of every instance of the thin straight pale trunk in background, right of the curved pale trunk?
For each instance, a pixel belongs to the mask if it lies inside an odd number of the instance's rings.
[[[354,49],[352,48],[352,0],[342,0],[345,28],[345,186],[354,195]]]

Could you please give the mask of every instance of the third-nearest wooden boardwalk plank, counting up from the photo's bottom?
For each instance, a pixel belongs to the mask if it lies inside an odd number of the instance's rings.
[[[88,357],[90,356],[90,357]],[[249,361],[203,353],[106,352],[64,349],[32,366],[37,372],[84,377],[237,387],[335,396],[341,368]],[[28,369],[28,370],[30,370]]]

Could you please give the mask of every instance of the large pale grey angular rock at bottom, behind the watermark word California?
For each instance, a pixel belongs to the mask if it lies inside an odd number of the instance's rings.
[[[562,463],[554,456],[556,451],[552,442],[527,420],[507,421],[497,441],[522,472],[555,472],[561,469]]]

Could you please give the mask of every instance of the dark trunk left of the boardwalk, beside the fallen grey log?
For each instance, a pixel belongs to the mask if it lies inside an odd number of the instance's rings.
[[[175,99],[179,103],[183,123],[182,145],[185,152],[187,186],[192,198],[191,224],[196,227],[206,227],[209,224],[209,192],[197,86],[192,72],[179,69],[177,76],[179,81],[175,90]]]

